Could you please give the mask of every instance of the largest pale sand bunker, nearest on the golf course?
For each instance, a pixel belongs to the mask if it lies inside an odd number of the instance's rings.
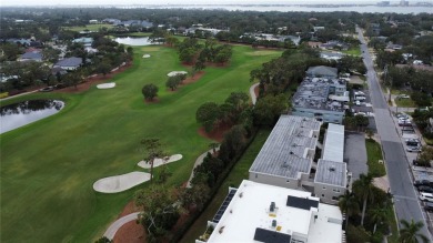
[[[123,192],[149,180],[149,173],[134,171],[127,174],[100,179],[93,183],[93,189],[94,191],[102,193],[117,193]]]

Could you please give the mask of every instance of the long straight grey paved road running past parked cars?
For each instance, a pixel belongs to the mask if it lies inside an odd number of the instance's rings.
[[[390,180],[391,193],[394,195],[394,206],[397,219],[411,221],[423,221],[425,224],[423,211],[421,210],[416,192],[412,185],[410,175],[410,166],[404,148],[399,138],[397,130],[393,122],[392,114],[389,110],[385,97],[377,82],[377,75],[373,68],[373,61],[370,57],[367,47],[362,36],[362,31],[356,29],[361,41],[362,57],[367,69],[367,81],[370,95],[375,114],[375,122],[379,135],[382,142],[384,159],[386,162],[387,176]],[[430,237],[431,234],[426,226],[422,229],[422,233]]]

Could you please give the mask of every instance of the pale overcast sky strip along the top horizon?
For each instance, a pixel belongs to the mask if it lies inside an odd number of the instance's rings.
[[[100,6],[110,6],[110,4],[233,4],[233,3],[251,3],[251,4],[262,4],[262,3],[374,3],[382,0],[0,0],[0,7],[6,6],[77,6],[77,4],[100,4]],[[433,1],[433,0],[424,0]],[[399,0],[391,0],[391,3],[399,2]],[[410,0],[410,2],[415,2]]]

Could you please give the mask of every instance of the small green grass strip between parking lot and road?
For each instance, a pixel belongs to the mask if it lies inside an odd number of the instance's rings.
[[[373,178],[381,178],[386,174],[385,165],[379,163],[379,160],[382,160],[382,148],[379,143],[376,143],[372,139],[365,140],[366,146],[366,156],[367,156],[367,165],[369,173],[373,175]]]

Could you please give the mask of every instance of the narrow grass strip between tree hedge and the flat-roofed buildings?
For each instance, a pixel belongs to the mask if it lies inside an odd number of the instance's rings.
[[[241,184],[242,180],[249,178],[248,171],[252,165],[255,156],[262,149],[270,133],[271,129],[262,129],[258,132],[254,141],[250,144],[242,158],[238,161],[233,170],[224,180],[216,195],[213,198],[212,202],[203,211],[200,217],[195,220],[190,230],[184,234],[183,239],[181,240],[181,243],[194,242],[197,239],[199,239],[200,235],[204,233],[208,224],[207,222],[211,221],[218,209],[220,209],[221,203],[224,201],[226,194],[229,193],[229,186],[238,188]]]

